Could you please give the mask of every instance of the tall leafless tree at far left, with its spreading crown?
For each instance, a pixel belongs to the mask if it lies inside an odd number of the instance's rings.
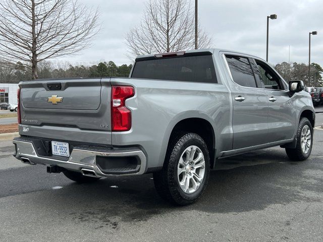
[[[98,31],[98,11],[77,0],[0,2],[0,57],[31,68],[32,79],[39,62],[89,47]]]

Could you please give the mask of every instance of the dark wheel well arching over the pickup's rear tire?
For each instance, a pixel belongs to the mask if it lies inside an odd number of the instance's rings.
[[[173,128],[168,145],[170,145],[172,138],[179,132],[192,132],[202,137],[209,152],[211,168],[213,168],[215,136],[211,124],[203,118],[194,117],[183,119]]]

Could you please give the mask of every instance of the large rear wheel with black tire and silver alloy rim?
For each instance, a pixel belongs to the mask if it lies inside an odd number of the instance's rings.
[[[193,154],[192,159],[189,159],[188,154]],[[187,157],[192,161],[191,164],[187,163]],[[153,173],[153,181],[161,198],[172,204],[184,206],[194,203],[201,196],[207,185],[209,171],[209,153],[203,139],[194,133],[181,133],[171,140],[163,169]],[[187,178],[189,179],[188,189],[185,183]],[[195,181],[194,184],[192,179]],[[182,185],[180,185],[180,180]]]

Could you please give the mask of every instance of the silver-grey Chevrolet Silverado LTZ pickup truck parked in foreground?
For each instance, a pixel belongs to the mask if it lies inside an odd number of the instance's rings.
[[[292,160],[311,153],[315,112],[303,82],[235,51],[143,55],[129,78],[19,87],[15,157],[79,183],[153,173],[161,197],[186,205],[218,159],[279,145]]]

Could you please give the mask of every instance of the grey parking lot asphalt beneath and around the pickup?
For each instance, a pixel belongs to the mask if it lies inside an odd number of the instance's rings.
[[[323,241],[322,144],[315,130],[304,162],[279,147],[221,159],[200,200],[174,207],[151,174],[79,185],[0,141],[0,240]]]

